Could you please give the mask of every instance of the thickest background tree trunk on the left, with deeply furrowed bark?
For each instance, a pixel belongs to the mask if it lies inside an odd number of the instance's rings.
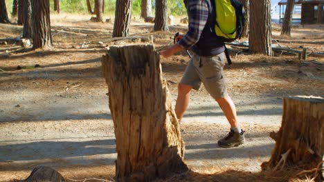
[[[49,0],[32,1],[33,49],[52,48]]]

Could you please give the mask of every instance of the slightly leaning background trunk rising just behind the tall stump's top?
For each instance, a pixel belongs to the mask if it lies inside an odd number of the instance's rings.
[[[113,37],[127,37],[132,16],[132,0],[116,1]]]

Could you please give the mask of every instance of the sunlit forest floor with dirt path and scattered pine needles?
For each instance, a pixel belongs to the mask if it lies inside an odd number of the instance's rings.
[[[93,23],[89,17],[71,14],[51,18],[53,50],[0,45],[0,181],[26,179],[37,165],[51,166],[69,181],[114,181],[114,125],[100,59],[105,46],[134,40],[107,41],[113,23]],[[169,32],[152,32],[152,26],[133,19],[130,36],[153,35],[154,45],[161,48],[186,28],[181,24]],[[0,24],[0,39],[17,38],[21,32],[21,26]],[[302,45],[324,52],[323,26],[294,26],[289,38],[280,37],[280,26],[273,24],[273,39],[289,48],[301,50]],[[181,123],[184,161],[192,172],[166,181],[287,181],[284,174],[260,172],[274,146],[269,132],[280,128],[283,97],[324,97],[324,58],[300,62],[285,52],[274,57],[243,52],[232,54],[232,59],[225,77],[246,130],[246,144],[219,148],[217,141],[229,125],[204,87],[193,91]],[[161,59],[173,104],[188,60],[186,52]],[[36,64],[39,67],[33,68]]]

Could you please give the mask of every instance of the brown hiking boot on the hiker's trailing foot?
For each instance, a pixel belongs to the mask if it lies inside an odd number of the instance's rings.
[[[227,136],[218,141],[218,145],[222,148],[233,148],[237,147],[238,145],[242,145],[244,142],[245,138],[243,130],[241,133],[237,133],[231,130],[231,132],[229,132]]]

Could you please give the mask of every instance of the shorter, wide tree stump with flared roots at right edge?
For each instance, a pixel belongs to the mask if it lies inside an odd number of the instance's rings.
[[[324,99],[287,97],[283,100],[280,130],[270,134],[276,141],[271,159],[263,170],[282,170],[287,165],[304,169],[322,168],[324,154]],[[321,169],[316,170],[323,177]]]

